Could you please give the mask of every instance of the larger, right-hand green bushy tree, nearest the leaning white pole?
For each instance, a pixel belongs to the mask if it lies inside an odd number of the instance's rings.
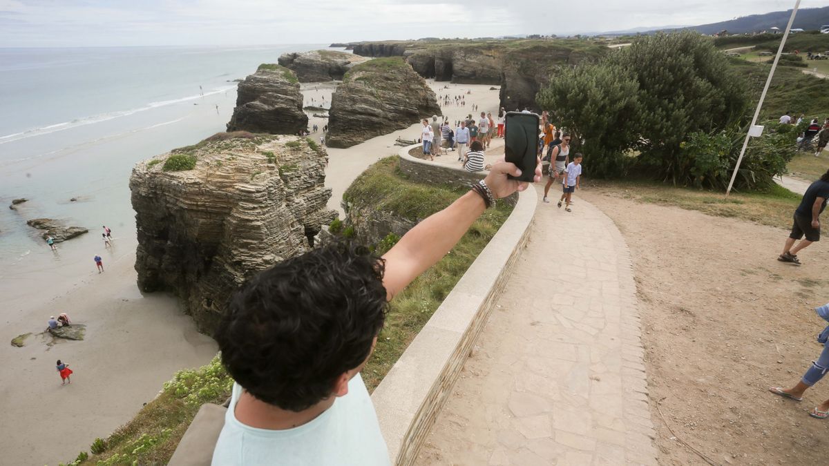
[[[748,106],[744,80],[710,39],[695,32],[642,37],[613,56],[638,82],[638,163],[685,182],[690,161],[681,143],[691,133],[714,133],[739,123]]]

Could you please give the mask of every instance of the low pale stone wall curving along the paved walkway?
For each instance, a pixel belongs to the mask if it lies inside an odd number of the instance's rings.
[[[467,187],[486,175],[419,160],[410,148],[400,150],[400,169],[419,182]],[[535,187],[519,193],[507,221],[371,395],[393,464],[414,463],[529,238],[536,202]]]

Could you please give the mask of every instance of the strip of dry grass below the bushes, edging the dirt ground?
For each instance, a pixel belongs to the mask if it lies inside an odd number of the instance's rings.
[[[585,187],[633,201],[676,206],[711,216],[733,217],[785,229],[792,226],[792,215],[801,199],[799,195],[778,186],[763,193],[732,192],[728,198],[722,192],[671,187],[655,182],[591,180],[585,183]]]

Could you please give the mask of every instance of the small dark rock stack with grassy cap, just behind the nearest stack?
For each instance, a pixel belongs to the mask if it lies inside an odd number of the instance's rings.
[[[263,64],[239,83],[228,131],[296,134],[303,129],[308,129],[308,115],[303,112],[303,95],[293,71]]]

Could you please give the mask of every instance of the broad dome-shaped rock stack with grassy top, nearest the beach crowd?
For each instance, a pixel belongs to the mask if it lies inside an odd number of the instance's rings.
[[[348,148],[434,114],[440,114],[434,92],[402,58],[366,61],[332,95],[326,144]]]

